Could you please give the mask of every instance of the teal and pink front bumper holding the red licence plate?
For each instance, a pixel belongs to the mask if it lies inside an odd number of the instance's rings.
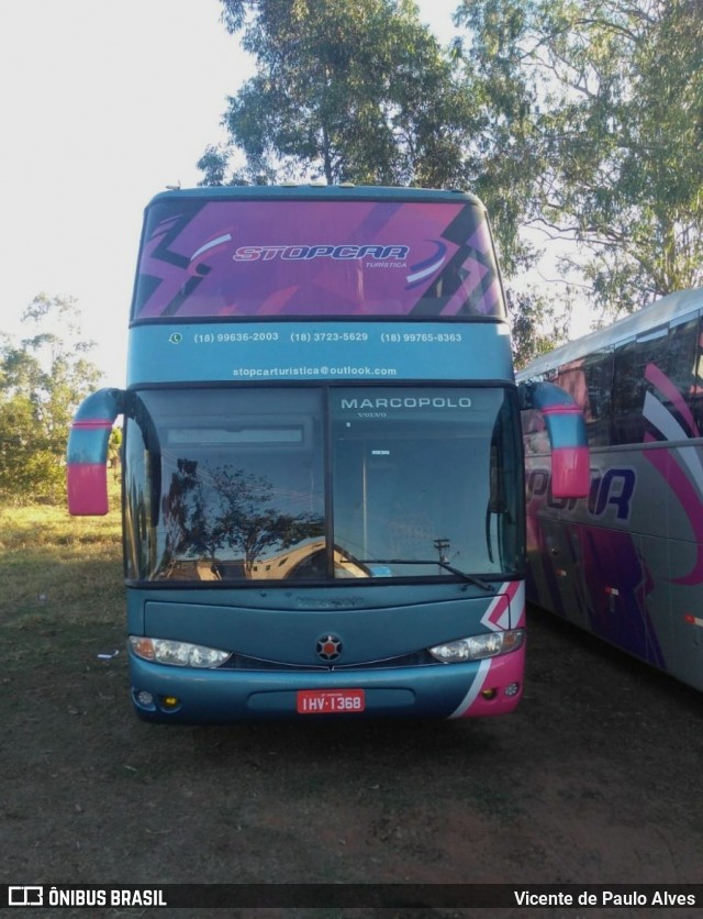
[[[130,676],[137,716],[156,722],[469,718],[514,711],[524,663],[524,646],[471,663],[293,673],[174,667],[130,653]]]

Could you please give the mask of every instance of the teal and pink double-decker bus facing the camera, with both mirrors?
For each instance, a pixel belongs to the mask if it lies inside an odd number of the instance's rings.
[[[554,433],[560,487],[583,494],[572,406],[548,384],[531,398]],[[120,414],[140,717],[515,708],[520,405],[477,198],[312,186],[157,195],[127,386],[90,396],[72,424],[71,513],[107,512]]]

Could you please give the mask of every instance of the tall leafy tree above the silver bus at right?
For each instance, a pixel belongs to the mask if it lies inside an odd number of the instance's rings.
[[[506,219],[573,241],[611,315],[703,283],[703,4],[464,0],[456,22],[479,193],[512,171]]]

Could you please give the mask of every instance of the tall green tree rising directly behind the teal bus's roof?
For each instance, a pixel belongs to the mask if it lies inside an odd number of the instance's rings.
[[[464,184],[471,100],[411,0],[222,0],[257,73],[230,99],[204,185]],[[246,167],[228,174],[234,148]]]

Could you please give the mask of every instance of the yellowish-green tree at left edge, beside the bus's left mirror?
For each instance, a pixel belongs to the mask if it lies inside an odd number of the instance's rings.
[[[33,334],[0,344],[0,499],[59,500],[70,421],[101,374],[87,357],[92,343],[80,336],[75,298],[40,294],[22,321]]]

